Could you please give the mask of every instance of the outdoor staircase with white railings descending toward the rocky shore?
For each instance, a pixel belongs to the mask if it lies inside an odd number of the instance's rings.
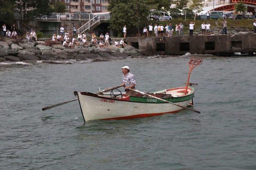
[[[80,28],[78,28],[76,31],[78,33],[83,33],[86,30],[90,30],[92,26],[97,26],[100,24],[100,21],[107,21],[110,19],[110,14],[98,14],[95,15],[92,19],[90,19],[88,22],[86,22],[84,25],[82,25]]]

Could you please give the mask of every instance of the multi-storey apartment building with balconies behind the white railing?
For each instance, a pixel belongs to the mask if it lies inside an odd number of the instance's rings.
[[[108,0],[51,0],[52,2],[63,2],[67,12],[108,12]]]

